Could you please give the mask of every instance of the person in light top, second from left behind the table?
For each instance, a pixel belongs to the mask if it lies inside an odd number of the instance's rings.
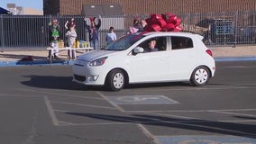
[[[75,27],[76,27],[76,25],[70,25],[69,31],[67,31],[67,33],[65,34],[65,36],[67,37],[67,40],[69,42],[70,48],[74,48],[74,43],[76,42],[76,39],[78,37]],[[68,57],[69,57],[69,59],[77,58],[76,50],[74,50],[74,49],[68,50]]]

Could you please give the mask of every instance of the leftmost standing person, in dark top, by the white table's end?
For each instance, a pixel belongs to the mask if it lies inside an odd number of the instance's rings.
[[[58,24],[57,19],[52,19],[49,27],[49,38],[50,38],[50,48],[53,48],[53,50],[49,50],[48,58],[59,58],[59,35],[60,35],[60,26]]]

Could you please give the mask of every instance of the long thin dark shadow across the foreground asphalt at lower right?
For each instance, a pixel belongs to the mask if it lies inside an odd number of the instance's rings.
[[[183,130],[197,130],[198,133],[203,131],[256,139],[256,125],[253,124],[208,121],[198,119],[179,119],[149,114],[132,114],[130,116],[119,116],[86,112],[65,113],[77,116],[85,116],[88,118],[99,119],[103,121],[141,123],[151,126],[169,127]]]

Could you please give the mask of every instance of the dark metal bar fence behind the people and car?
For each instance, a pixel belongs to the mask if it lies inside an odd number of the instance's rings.
[[[139,19],[149,16],[136,15]],[[77,24],[78,40],[87,40],[88,33],[84,28],[84,16],[81,15],[0,15],[0,49],[45,49],[49,45],[49,23],[52,18],[59,20],[60,38],[65,40],[64,24],[71,17],[75,18]],[[133,17],[133,15],[102,17],[102,26],[99,31],[100,47],[105,46],[105,33],[110,26],[114,26],[117,37],[121,37],[126,34],[129,26],[133,23]],[[206,45],[256,44],[256,11],[178,14],[178,17],[182,20],[183,31],[203,35]]]

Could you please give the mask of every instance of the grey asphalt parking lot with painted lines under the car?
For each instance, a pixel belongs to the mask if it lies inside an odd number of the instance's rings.
[[[255,61],[217,62],[203,87],[72,83],[71,66],[0,67],[1,143],[256,143]]]

